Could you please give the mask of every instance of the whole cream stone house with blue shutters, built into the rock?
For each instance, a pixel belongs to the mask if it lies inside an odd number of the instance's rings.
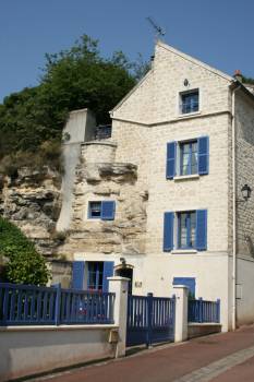
[[[223,331],[254,321],[254,198],[241,192],[254,189],[254,96],[240,80],[158,41],[110,112],[111,136],[94,140],[88,111],[72,115],[58,229],[74,287],[107,290],[113,273],[136,295],[186,284],[221,300]]]

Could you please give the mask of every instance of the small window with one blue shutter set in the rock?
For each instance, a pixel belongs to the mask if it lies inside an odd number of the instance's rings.
[[[96,201],[88,203],[88,218],[101,220],[113,220],[114,219],[114,201]]]

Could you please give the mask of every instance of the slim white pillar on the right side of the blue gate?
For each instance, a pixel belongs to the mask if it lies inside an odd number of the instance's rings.
[[[185,285],[173,285],[176,295],[176,324],[174,342],[188,339],[188,296],[189,288]]]

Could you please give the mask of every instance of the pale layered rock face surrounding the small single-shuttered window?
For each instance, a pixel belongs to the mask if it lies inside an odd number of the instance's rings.
[[[94,150],[98,156],[98,147]],[[135,165],[87,162],[83,152],[76,168],[72,223],[58,251],[69,259],[74,252],[144,253],[147,199]],[[102,200],[116,201],[114,219],[87,218],[88,202]]]

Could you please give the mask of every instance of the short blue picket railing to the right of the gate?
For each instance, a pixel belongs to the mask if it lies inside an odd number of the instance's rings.
[[[220,300],[206,301],[199,298],[198,300],[189,300],[188,307],[189,322],[220,322]]]

